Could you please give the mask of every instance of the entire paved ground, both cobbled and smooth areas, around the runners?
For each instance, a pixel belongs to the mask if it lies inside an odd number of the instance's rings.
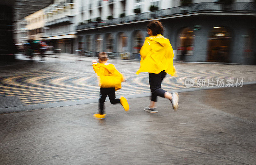
[[[130,111],[107,101],[107,119],[99,121],[92,59],[0,67],[1,165],[255,164],[255,66],[175,63],[179,77],[167,75],[162,88],[180,91],[179,111],[159,98],[159,113],[150,114],[143,111],[148,74],[135,74],[138,61],[110,59],[127,80],[116,95],[128,98]],[[186,78],[194,85],[187,88]]]

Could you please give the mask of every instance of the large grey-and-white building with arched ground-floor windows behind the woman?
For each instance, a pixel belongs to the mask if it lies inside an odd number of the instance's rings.
[[[136,58],[148,21],[159,20],[177,61],[256,63],[256,6],[251,1],[223,5],[197,0],[188,6],[176,0],[86,2],[77,14],[77,49],[88,54],[128,52]],[[150,11],[152,5],[157,10]]]

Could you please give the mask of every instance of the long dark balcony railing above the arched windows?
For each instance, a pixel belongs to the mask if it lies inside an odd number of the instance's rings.
[[[162,9],[158,11],[150,11],[135,15],[129,15],[119,18],[113,18],[110,20],[104,20],[101,22],[92,22],[84,25],[78,25],[77,30],[79,29],[86,29],[86,28],[93,28],[99,26],[106,26],[106,25],[116,25],[121,23],[127,22],[134,22],[134,21],[141,21],[147,20],[152,18],[164,18],[170,17],[174,15],[182,15],[182,14],[190,14],[190,13],[199,13],[199,12],[236,12],[236,13],[256,13],[256,5],[254,3],[233,3],[228,6],[223,6],[221,4],[216,3],[196,3],[190,6],[178,6],[169,9]]]

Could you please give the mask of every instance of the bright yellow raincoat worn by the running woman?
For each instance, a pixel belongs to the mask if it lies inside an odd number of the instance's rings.
[[[176,69],[173,66],[173,50],[169,39],[161,34],[146,37],[143,46],[140,49],[140,68],[136,72],[160,73],[165,70],[166,73],[176,76]]]

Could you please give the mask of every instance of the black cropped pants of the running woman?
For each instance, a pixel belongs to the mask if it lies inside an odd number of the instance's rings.
[[[151,90],[151,101],[156,101],[157,96],[164,97],[164,93],[166,92],[161,88],[162,81],[166,75],[164,72],[165,70],[161,71],[158,74],[155,73],[148,73],[148,78],[149,78],[149,86]]]

